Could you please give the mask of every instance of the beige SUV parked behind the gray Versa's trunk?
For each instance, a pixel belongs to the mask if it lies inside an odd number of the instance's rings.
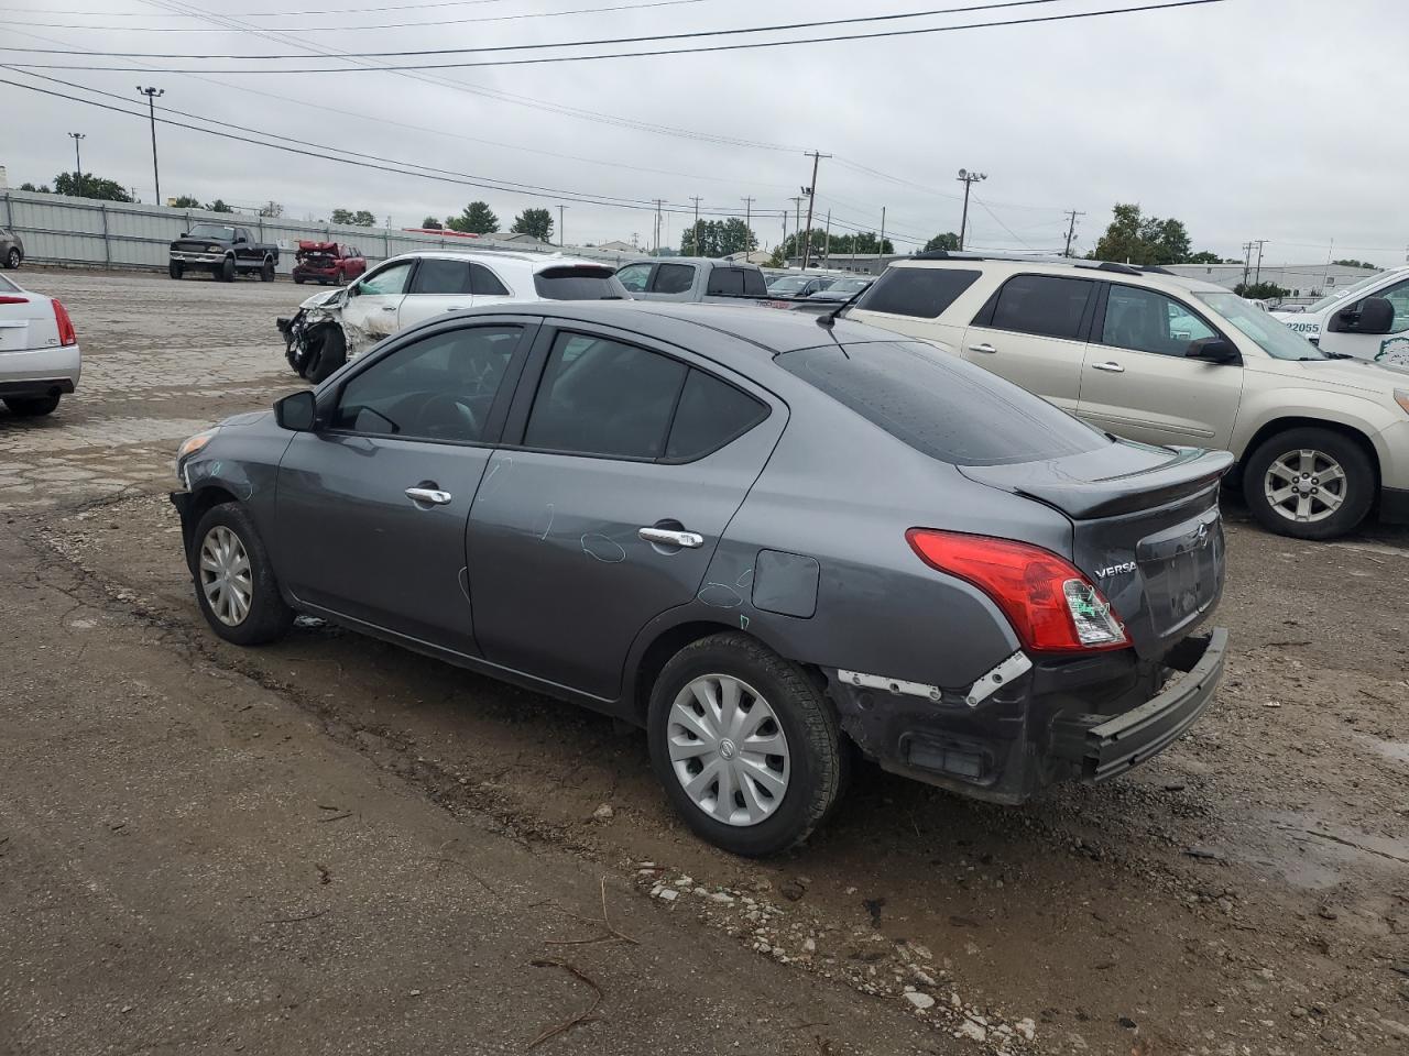
[[[1096,428],[1227,448],[1257,518],[1324,539],[1409,522],[1409,372],[1317,349],[1222,286],[1117,263],[921,253],[847,313]]]

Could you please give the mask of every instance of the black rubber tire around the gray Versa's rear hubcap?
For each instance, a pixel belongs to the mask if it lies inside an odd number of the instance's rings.
[[[827,753],[837,755],[838,743],[816,742],[814,724],[809,724],[805,710],[830,708],[830,704],[807,681],[806,674],[795,665],[768,652],[761,643],[748,646],[733,641],[741,635],[717,635],[681,650],[657,679],[651,691],[647,724],[651,766],[657,779],[665,787],[671,804],[703,839],[735,855],[759,857],[775,855],[799,843],[812,832],[833,800],[819,808],[819,786],[828,779],[823,773]],[[744,639],[750,642],[750,639]],[[779,677],[781,673],[792,677]],[[706,815],[686,796],[671,765],[666,729],[669,711],[675,697],[693,679],[702,674],[730,674],[751,686],[768,701],[778,725],[788,738],[789,779],[783,801],[774,814],[758,825],[726,825]],[[790,684],[789,684],[790,683]],[[806,687],[799,693],[799,687]],[[800,698],[799,698],[800,697]],[[831,725],[834,729],[834,724]],[[833,781],[840,786],[840,781]]]

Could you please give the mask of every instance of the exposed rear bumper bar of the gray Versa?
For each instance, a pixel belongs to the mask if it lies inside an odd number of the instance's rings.
[[[1222,627],[1186,638],[1165,658],[1184,676],[1160,696],[1122,715],[1074,715],[1053,727],[1055,755],[1081,765],[1085,781],[1105,781],[1154,758],[1203,714],[1223,679],[1229,632]]]

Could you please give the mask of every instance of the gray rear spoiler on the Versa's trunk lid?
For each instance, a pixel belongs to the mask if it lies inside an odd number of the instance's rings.
[[[1157,449],[1155,449],[1157,451]],[[1150,469],[1115,477],[1082,479],[1082,455],[1054,462],[1019,462],[1006,466],[960,466],[969,480],[1045,503],[1074,521],[1116,517],[1168,505],[1217,487],[1233,467],[1227,451],[1175,448],[1175,458]],[[1064,473],[1054,473],[1053,466]]]

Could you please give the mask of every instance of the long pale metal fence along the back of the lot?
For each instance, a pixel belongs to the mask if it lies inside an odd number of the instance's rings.
[[[165,270],[170,241],[189,231],[192,224],[201,221],[248,227],[256,232],[258,241],[276,244],[279,246],[278,270],[282,275],[293,270],[293,253],[299,248],[299,239],[344,242],[356,246],[366,256],[369,265],[417,249],[558,252],[557,246],[526,246],[519,242],[496,242],[489,238],[438,237],[397,228],[320,224],[286,217],[144,206],[134,201],[94,201],[23,190],[6,190],[3,203],[0,227],[10,228],[20,235],[24,241],[25,259],[35,263],[159,268]],[[613,265],[633,259],[631,255],[592,246],[568,246],[565,252]]]

